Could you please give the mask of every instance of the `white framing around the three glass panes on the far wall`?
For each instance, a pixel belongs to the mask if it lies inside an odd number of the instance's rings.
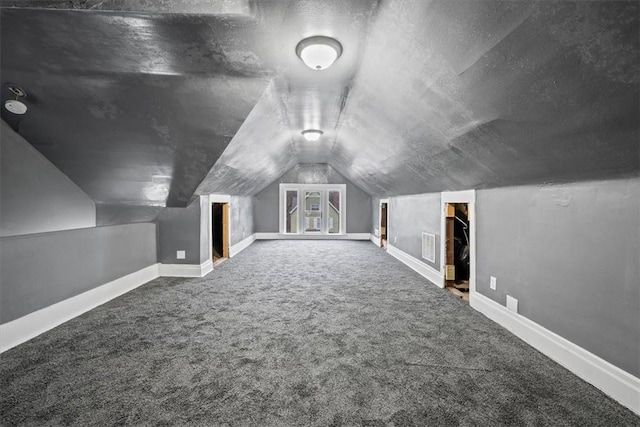
[[[287,233],[286,230],[286,192],[298,192],[298,227],[297,233]],[[304,232],[304,192],[320,191],[322,203],[322,231],[321,232]],[[340,230],[338,233],[329,233],[329,192],[340,192]],[[347,185],[346,184],[280,184],[279,214],[280,214],[280,234],[286,235],[313,235],[322,234],[327,236],[345,235],[347,230],[346,223],[346,206],[347,205]]]

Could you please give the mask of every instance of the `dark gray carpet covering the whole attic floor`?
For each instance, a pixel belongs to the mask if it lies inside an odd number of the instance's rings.
[[[3,426],[637,426],[369,242],[256,242],[0,356]]]

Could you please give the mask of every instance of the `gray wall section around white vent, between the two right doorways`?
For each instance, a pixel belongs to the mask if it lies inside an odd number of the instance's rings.
[[[389,200],[389,244],[440,270],[440,193]],[[436,235],[436,262],[422,258],[422,232]]]

